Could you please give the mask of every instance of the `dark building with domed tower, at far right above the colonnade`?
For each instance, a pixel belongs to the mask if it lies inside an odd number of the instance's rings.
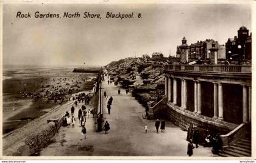
[[[237,31],[238,36],[229,38],[226,42],[226,58],[230,60],[252,59],[252,33],[242,26]]]

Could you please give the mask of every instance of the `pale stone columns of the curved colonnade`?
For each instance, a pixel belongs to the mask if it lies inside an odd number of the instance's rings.
[[[171,79],[172,78],[172,79]],[[188,87],[187,78],[180,78],[181,80],[181,104],[180,108],[187,109],[188,100]],[[201,82],[199,80],[194,81],[194,113],[196,115],[202,114],[202,90]],[[213,119],[224,121],[224,101],[223,101],[223,88],[221,82],[213,82]],[[177,105],[177,78],[165,76],[165,96],[168,101],[172,101],[174,105]],[[251,86],[243,85],[243,122],[251,122]],[[171,99],[172,97],[172,99]]]

